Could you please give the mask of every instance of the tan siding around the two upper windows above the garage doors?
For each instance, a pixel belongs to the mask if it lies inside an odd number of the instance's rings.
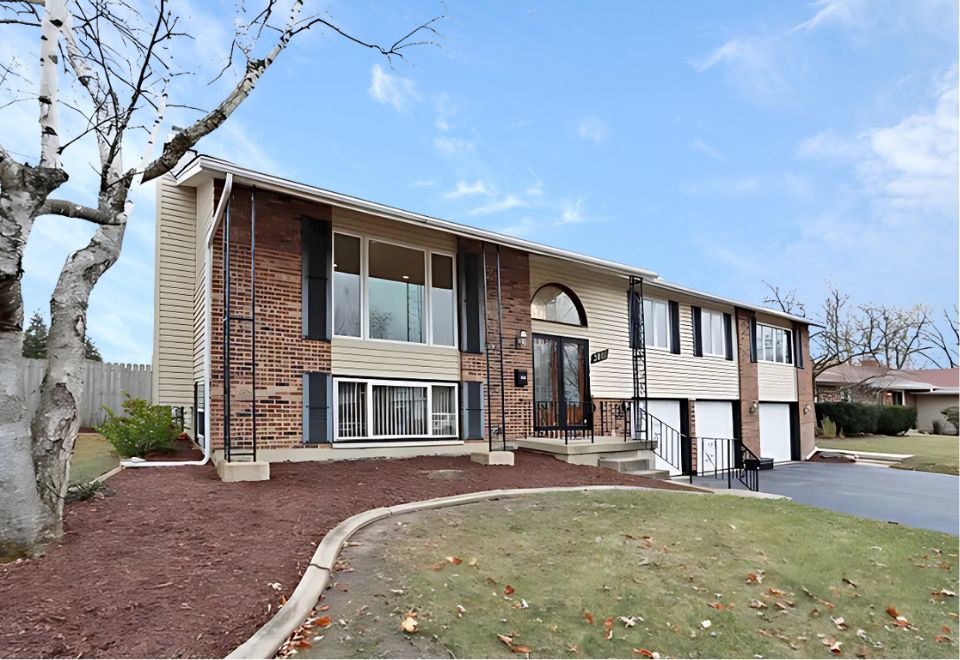
[[[733,316],[733,307],[699,300],[673,291],[645,285],[643,295],[679,304],[680,354],[669,350],[647,349],[647,389],[652,398],[723,399],[740,398],[737,368],[736,332],[733,334],[733,359],[693,354],[693,311],[691,305]]]

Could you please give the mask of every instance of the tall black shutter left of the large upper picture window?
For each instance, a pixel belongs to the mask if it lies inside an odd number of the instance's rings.
[[[333,333],[330,269],[333,234],[328,220],[300,220],[300,274],[303,336],[329,340]]]

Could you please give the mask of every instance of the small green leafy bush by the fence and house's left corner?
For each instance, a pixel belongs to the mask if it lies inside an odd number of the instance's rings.
[[[123,415],[103,407],[107,421],[97,428],[117,453],[124,458],[145,456],[153,451],[169,451],[177,437],[170,406],[154,406],[143,399],[123,402]]]

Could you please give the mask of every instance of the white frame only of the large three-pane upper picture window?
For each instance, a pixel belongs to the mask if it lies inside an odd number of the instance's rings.
[[[362,339],[364,341],[376,341],[376,342],[386,342],[389,344],[401,344],[404,346],[439,346],[442,348],[452,348],[459,349],[460,342],[460,332],[459,332],[459,291],[458,291],[458,282],[457,282],[457,255],[454,252],[449,252],[447,250],[435,250],[433,248],[427,248],[422,245],[414,245],[412,243],[404,243],[402,241],[396,241],[390,238],[383,238],[375,234],[364,234],[361,232],[356,232],[351,229],[340,229],[338,227],[333,228],[334,235],[343,234],[344,236],[352,236],[354,238],[360,239],[360,336],[355,335],[338,335],[336,334],[337,328],[337,300],[336,300],[336,287],[332,285],[334,279],[334,270],[331,266],[330,272],[330,291],[331,291],[331,306],[330,309],[333,313],[333,329],[334,337],[344,338],[344,339]],[[370,241],[375,241],[377,243],[384,243],[386,245],[393,245],[396,247],[407,248],[409,250],[417,250],[423,253],[423,268],[424,268],[424,301],[423,301],[423,323],[425,325],[423,330],[423,341],[401,341],[398,339],[377,339],[370,337]],[[336,240],[332,241],[333,245],[336,245]],[[433,343],[433,261],[432,256],[438,254],[444,257],[449,257],[453,266],[453,343],[452,344],[434,344]],[[331,263],[336,263],[337,255],[334,251],[333,259]]]

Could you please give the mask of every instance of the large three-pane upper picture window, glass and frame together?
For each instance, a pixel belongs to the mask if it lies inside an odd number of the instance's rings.
[[[335,335],[456,346],[452,256],[341,233],[333,244]]]

